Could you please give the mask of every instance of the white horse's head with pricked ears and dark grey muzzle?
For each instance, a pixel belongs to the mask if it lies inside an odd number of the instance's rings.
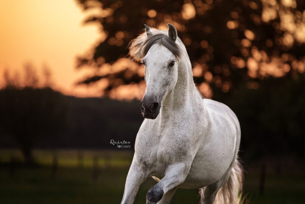
[[[172,91],[178,79],[177,58],[181,54],[176,42],[176,28],[168,24],[168,36],[155,34],[145,25],[147,40],[142,59],[145,65],[145,95],[141,101],[141,110],[145,118],[155,119],[161,108],[161,102]],[[146,49],[146,51],[145,51]]]

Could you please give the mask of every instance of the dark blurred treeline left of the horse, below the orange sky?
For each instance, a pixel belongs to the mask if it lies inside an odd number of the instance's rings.
[[[0,90],[0,148],[20,148],[28,163],[33,148],[114,148],[111,139],[133,147],[141,121],[138,101],[76,98],[49,87]]]

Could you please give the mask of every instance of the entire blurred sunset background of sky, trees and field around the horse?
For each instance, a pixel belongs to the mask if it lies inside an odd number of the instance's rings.
[[[243,196],[305,203],[303,0],[2,0],[0,203],[120,203],[143,117],[143,24],[173,24],[242,129]],[[130,142],[117,148],[110,141]],[[154,185],[146,181],[135,203]],[[198,203],[179,189],[172,203]]]

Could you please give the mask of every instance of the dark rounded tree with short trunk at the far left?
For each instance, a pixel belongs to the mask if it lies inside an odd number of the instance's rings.
[[[38,76],[26,66],[25,87],[7,77],[0,90],[0,132],[18,143],[26,163],[34,162],[32,149],[44,137],[56,138],[66,126],[66,101],[50,87],[38,88]],[[7,72],[5,72],[7,75]],[[18,82],[20,84],[20,82]]]

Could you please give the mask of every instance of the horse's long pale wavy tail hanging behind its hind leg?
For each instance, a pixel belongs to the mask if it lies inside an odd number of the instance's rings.
[[[217,192],[213,204],[241,204],[243,169],[238,158],[235,159],[230,177],[226,184]],[[200,194],[203,196],[203,189]]]

